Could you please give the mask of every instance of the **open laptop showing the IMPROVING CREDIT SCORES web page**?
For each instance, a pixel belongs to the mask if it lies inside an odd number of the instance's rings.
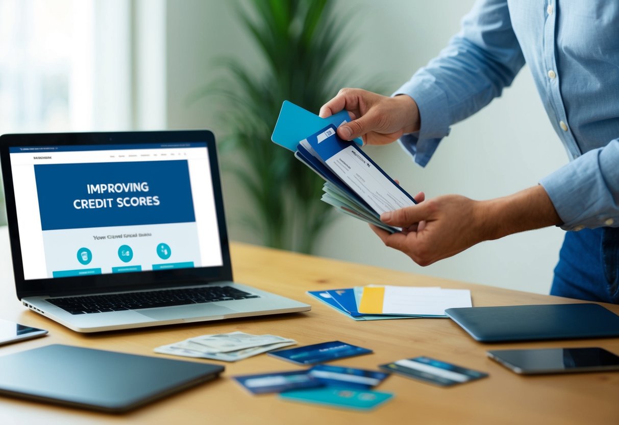
[[[208,130],[4,134],[15,290],[78,332],[308,311],[232,279]]]

